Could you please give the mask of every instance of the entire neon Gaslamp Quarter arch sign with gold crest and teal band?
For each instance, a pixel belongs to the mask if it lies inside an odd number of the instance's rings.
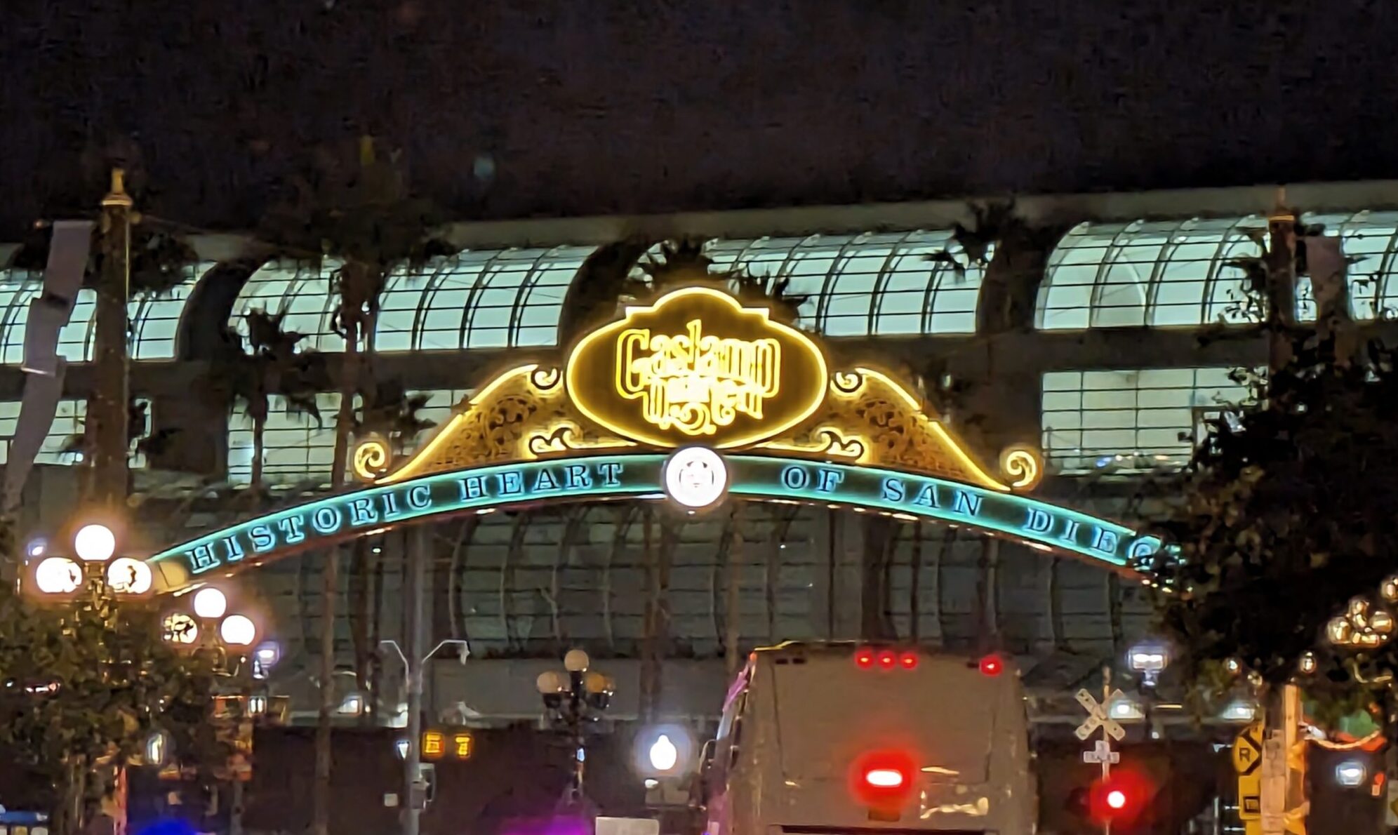
[[[561,501],[726,495],[935,519],[1128,571],[1159,540],[1032,499],[1036,450],[984,464],[895,375],[822,347],[721,288],[667,292],[583,336],[558,362],[488,380],[408,460],[354,450],[356,491],[287,508],[150,561],[178,589],[396,524]]]

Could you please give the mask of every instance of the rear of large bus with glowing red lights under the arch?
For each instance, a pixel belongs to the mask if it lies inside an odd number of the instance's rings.
[[[728,702],[709,835],[1033,831],[1022,690],[998,657],[786,645]]]

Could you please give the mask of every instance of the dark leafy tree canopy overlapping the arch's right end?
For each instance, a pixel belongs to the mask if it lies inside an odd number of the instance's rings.
[[[1307,690],[1343,685],[1352,667],[1324,652],[1325,624],[1355,596],[1378,603],[1398,568],[1394,352],[1370,344],[1350,362],[1331,343],[1302,344],[1257,393],[1209,422],[1163,526],[1179,559],[1144,568],[1187,674],[1233,657],[1278,684],[1316,650]]]

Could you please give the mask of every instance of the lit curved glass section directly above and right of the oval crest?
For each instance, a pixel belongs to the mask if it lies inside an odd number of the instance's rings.
[[[825,336],[976,330],[984,270],[967,263],[951,231],[713,241],[706,252],[719,270],[790,278],[787,295],[808,297],[801,324]]]

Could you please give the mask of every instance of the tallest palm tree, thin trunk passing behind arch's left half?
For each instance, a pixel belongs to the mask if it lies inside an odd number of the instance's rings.
[[[284,255],[331,259],[338,305],[333,327],[345,348],[338,375],[340,411],[331,460],[333,490],[344,485],[354,431],[355,394],[362,389],[363,355],[372,359],[379,299],[393,270],[453,250],[432,232],[446,215],[431,200],[414,197],[398,155],[380,155],[373,137],[361,137],[351,157],[322,150],[306,176],[292,183],[287,200],[264,218],[259,235]],[[372,371],[372,368],[370,368]],[[322,573],[320,716],[316,729],[316,792],[312,829],[329,835],[330,719],[334,705],[334,620],[340,586],[338,552],[324,555]]]

